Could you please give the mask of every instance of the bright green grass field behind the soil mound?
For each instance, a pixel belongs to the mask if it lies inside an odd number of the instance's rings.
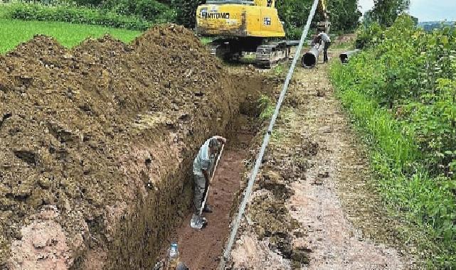
[[[0,53],[13,50],[19,43],[29,41],[36,34],[52,36],[61,45],[71,48],[85,38],[97,38],[105,35],[105,33],[129,43],[142,32],[84,24],[0,18]]]

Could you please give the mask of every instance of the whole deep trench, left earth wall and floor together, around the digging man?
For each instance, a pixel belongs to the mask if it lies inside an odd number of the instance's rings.
[[[227,123],[223,129],[198,131],[192,142],[198,147],[183,153],[183,158],[172,165],[176,171],[169,169],[169,173],[162,177],[162,184],[154,187],[157,188],[154,195],[139,197],[132,202],[133,207],[122,216],[118,234],[108,247],[105,269],[153,269],[165,257],[173,240],[178,241],[181,260],[189,264],[190,269],[216,268],[230,233],[229,222],[238,205],[241,185],[245,182],[241,175],[245,172],[243,161],[253,158],[254,153],[248,149],[251,139],[261,129],[258,101],[261,95],[272,95],[278,83],[258,74],[233,77],[233,90],[243,93],[236,105],[238,109],[233,110],[227,119],[218,119]],[[214,212],[207,215],[208,226],[197,232],[189,228],[193,211],[191,166],[199,146],[215,135],[214,132],[226,136],[228,145],[208,197]],[[92,247],[92,253],[97,254],[96,248]],[[90,256],[81,258],[74,269],[84,269],[83,265],[90,264]]]

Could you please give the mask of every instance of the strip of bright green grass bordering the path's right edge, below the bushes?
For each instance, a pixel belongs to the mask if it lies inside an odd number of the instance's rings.
[[[418,247],[431,269],[450,269],[456,266],[456,226],[452,224],[456,217],[452,185],[456,183],[432,175],[410,124],[398,121],[375,97],[366,95],[366,82],[375,76],[361,60],[348,66],[334,63],[331,75],[337,97],[370,147],[374,185],[390,214],[401,220],[398,237]]]

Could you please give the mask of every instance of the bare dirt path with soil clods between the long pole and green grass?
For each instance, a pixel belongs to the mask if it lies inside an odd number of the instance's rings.
[[[296,70],[232,252],[235,269],[410,264],[389,240],[393,221],[368,185],[368,161],[334,97],[328,66]]]

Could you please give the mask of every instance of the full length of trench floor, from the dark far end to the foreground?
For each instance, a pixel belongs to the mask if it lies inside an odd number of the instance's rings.
[[[246,163],[253,158],[253,153],[249,149],[261,129],[261,122],[258,119],[260,107],[257,102],[257,95],[250,96],[242,102],[239,114],[233,117],[224,134],[228,144],[218,164],[208,195],[208,204],[213,208],[213,212],[203,214],[208,225],[201,230],[192,229],[189,226],[192,212],[187,212],[184,220],[174,227],[168,241],[163,244],[157,265],[166,265],[167,248],[171,242],[177,242],[180,261],[189,269],[218,267],[226,239],[230,234],[230,222],[245,186]]]

